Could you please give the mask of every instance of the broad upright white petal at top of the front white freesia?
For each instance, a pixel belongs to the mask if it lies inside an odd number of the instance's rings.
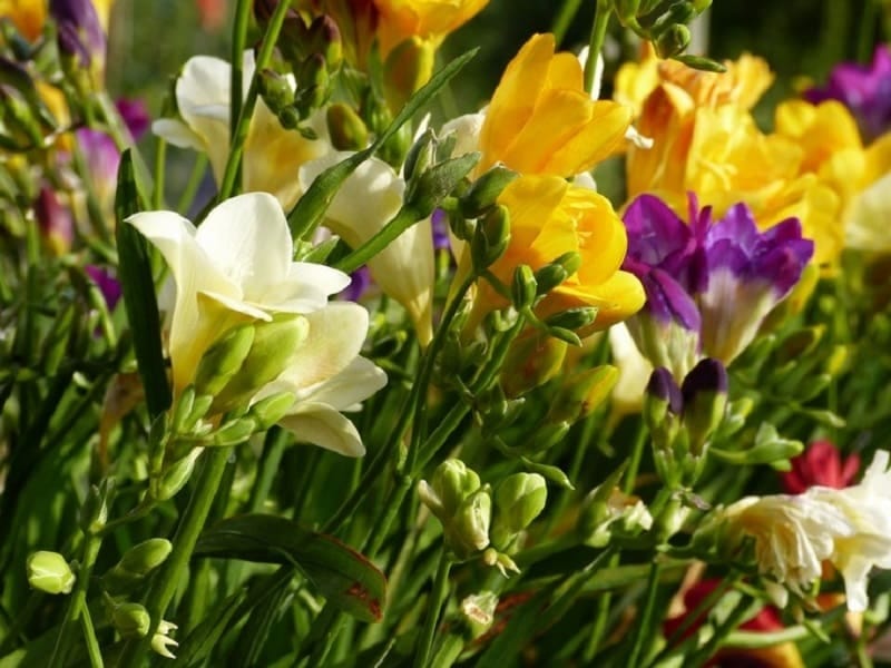
[[[238,195],[217,205],[196,238],[247,302],[263,304],[287,277],[291,233],[281,205],[267,193]]]

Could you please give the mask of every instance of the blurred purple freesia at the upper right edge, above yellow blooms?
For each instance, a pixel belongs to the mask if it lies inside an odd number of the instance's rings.
[[[842,62],[832,70],[823,87],[804,92],[807,101],[839,100],[858,120],[866,141],[891,127],[891,50],[880,45],[872,65]]]

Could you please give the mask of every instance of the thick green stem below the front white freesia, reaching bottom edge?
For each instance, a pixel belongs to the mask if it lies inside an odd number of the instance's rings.
[[[151,637],[158,629],[158,625],[176,593],[176,588],[195,549],[195,543],[198,541],[198,536],[204,529],[204,521],[214,504],[231,452],[232,448],[212,448],[206,453],[206,460],[198,474],[192,499],[189,499],[188,507],[176,530],[173,552],[165,561],[164,570],[155,576],[146,598],[145,605],[151,617],[151,629],[141,640],[127,641],[118,666],[135,668],[140,665],[141,657],[148,649]]]

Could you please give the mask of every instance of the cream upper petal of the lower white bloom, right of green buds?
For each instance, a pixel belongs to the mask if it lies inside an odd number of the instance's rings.
[[[350,302],[335,302],[306,314],[310,334],[280,380],[300,391],[326,381],[359,355],[369,330],[368,312]]]

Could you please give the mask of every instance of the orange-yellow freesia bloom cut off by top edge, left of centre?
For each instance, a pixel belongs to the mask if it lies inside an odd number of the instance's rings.
[[[386,55],[407,39],[418,37],[438,47],[443,39],[477,16],[489,0],[373,0],[378,8],[378,39]]]

